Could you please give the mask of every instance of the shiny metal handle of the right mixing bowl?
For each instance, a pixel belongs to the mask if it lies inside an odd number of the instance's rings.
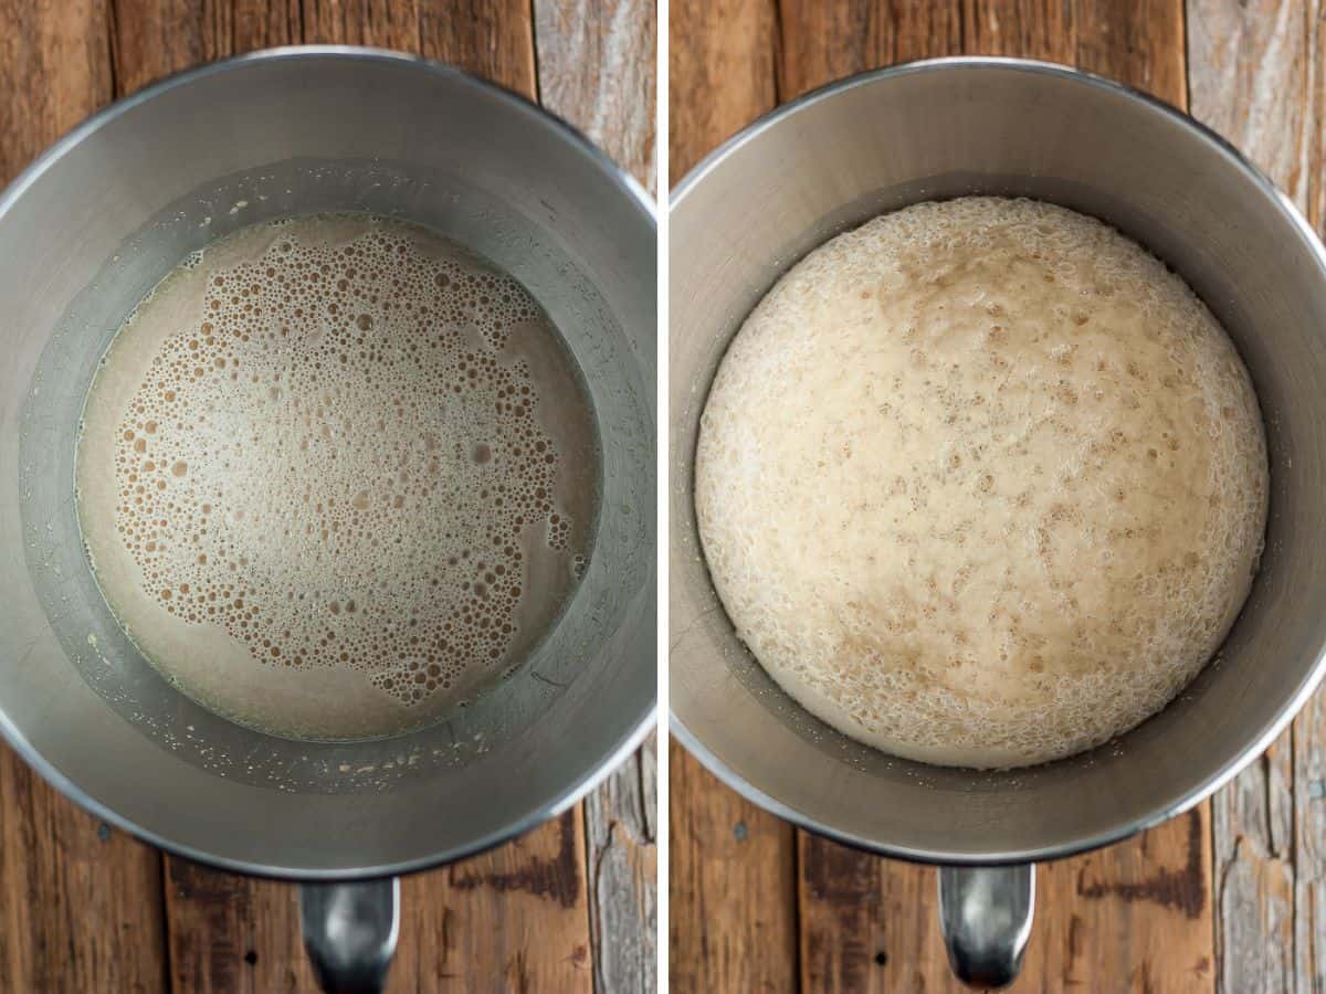
[[[1022,966],[1036,914],[1036,867],[940,867],[948,964],[972,987],[1004,987]]]

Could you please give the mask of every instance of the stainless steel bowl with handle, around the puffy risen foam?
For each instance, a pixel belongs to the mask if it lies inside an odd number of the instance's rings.
[[[1116,742],[1012,773],[896,759],[794,704],[735,637],[692,506],[700,411],[751,307],[830,236],[963,193],[1032,196],[1095,215],[1174,266],[1238,346],[1270,444],[1266,554],[1219,660]],[[1322,247],[1265,176],[1174,109],[1063,66],[955,58],[833,85],[719,148],[672,199],[671,282],[674,733],[784,818],[944,864],[941,917],[955,966],[973,981],[1006,981],[1029,932],[1030,864],[1196,804],[1274,738],[1322,676]]]

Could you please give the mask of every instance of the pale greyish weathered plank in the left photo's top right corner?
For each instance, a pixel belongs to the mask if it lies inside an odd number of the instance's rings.
[[[538,97],[654,191],[652,0],[534,0]]]

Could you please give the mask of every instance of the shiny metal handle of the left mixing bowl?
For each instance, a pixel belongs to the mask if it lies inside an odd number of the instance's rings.
[[[378,994],[400,930],[400,880],[300,884],[304,948],[328,994]]]

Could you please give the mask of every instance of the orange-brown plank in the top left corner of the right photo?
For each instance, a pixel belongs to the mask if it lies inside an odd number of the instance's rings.
[[[778,103],[773,0],[668,5],[668,175],[695,163]]]

